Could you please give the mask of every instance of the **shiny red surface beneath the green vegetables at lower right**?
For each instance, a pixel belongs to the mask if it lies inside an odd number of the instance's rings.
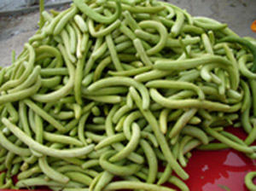
[[[242,139],[246,137],[240,129],[228,130]],[[191,191],[247,191],[244,177],[248,171],[256,171],[256,160],[248,159],[233,149],[195,150],[185,171],[189,173],[186,184]]]

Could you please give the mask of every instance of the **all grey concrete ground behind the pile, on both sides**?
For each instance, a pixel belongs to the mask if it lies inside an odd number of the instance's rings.
[[[61,0],[48,0],[61,1]],[[241,37],[256,38],[250,30],[256,20],[256,0],[169,0],[193,16],[208,16],[227,23]],[[25,0],[1,0],[1,12],[26,7]],[[65,9],[65,7],[61,8]],[[24,43],[38,30],[38,11],[16,16],[0,16],[0,66],[11,64],[11,52],[20,54]]]

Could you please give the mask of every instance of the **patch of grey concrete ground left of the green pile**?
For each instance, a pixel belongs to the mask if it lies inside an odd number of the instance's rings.
[[[11,3],[13,2],[13,4]],[[67,0],[47,0],[46,3],[67,2]],[[34,5],[37,7],[38,5]],[[61,5],[55,9],[67,9],[69,4]],[[24,43],[38,31],[38,9],[27,14],[17,14],[17,10],[26,8],[25,0],[0,0],[0,66],[11,64],[12,50],[19,55]],[[9,15],[9,11],[15,10],[15,15]],[[19,11],[18,11],[19,12]],[[4,16],[1,16],[3,13]],[[7,16],[5,16],[7,14]]]

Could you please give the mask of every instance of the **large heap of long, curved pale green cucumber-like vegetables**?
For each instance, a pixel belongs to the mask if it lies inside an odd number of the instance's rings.
[[[154,0],[42,2],[0,71],[0,188],[189,190],[193,149],[256,159],[255,39]]]

